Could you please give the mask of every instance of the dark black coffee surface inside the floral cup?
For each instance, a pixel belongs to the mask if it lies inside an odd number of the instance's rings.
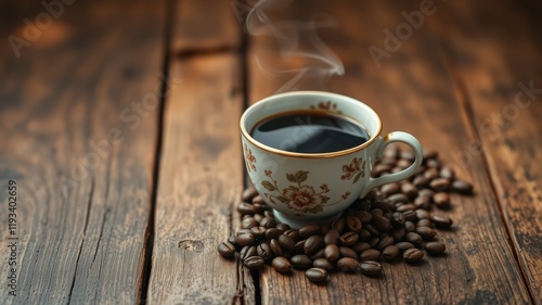
[[[352,119],[318,112],[292,112],[263,119],[251,136],[268,147],[298,153],[336,152],[369,140],[367,131]]]

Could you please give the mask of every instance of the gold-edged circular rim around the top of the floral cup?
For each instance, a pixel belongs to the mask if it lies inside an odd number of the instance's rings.
[[[282,98],[282,97],[287,97],[287,96],[292,96],[292,97],[295,97],[295,96],[313,96],[314,98],[317,98],[317,97],[321,97],[321,98],[322,97],[326,97],[326,98],[350,100],[352,102],[360,103],[362,106],[366,107],[366,110],[370,111],[377,118],[377,120],[378,120],[377,130],[376,130],[376,132],[374,135],[371,135],[371,138],[366,142],[364,142],[363,144],[350,148],[348,150],[341,150],[341,151],[328,152],[328,153],[297,153],[297,152],[288,152],[288,151],[283,151],[283,150],[279,150],[279,149],[275,149],[275,148],[271,148],[271,147],[268,147],[266,144],[262,144],[262,143],[256,141],[249,135],[249,132],[246,130],[246,128],[245,128],[245,126],[243,124],[243,122],[245,120],[245,117],[246,117],[247,113],[249,112],[249,110],[253,109],[254,106],[260,104],[260,103],[266,103],[269,100],[274,100],[274,99]],[[296,110],[293,110],[293,111],[296,111]],[[345,115],[345,114],[341,114],[341,115]],[[348,115],[345,115],[345,116],[348,116]],[[264,119],[267,117],[262,117],[262,119]],[[348,116],[348,117],[351,118],[351,119],[354,119],[351,116]],[[358,123],[361,124],[361,122],[359,122],[358,119],[356,119],[356,122],[358,122]],[[322,91],[295,91],[295,92],[286,92],[286,93],[281,93],[281,94],[276,94],[276,96],[271,96],[271,97],[268,97],[268,98],[266,98],[263,100],[260,100],[260,101],[251,104],[249,107],[247,107],[243,112],[243,115],[241,115],[240,127],[241,127],[241,134],[242,134],[243,138],[245,140],[247,140],[248,142],[253,143],[255,147],[261,149],[261,150],[264,150],[264,151],[268,151],[268,152],[271,152],[271,153],[275,153],[275,154],[279,154],[279,155],[291,156],[291,157],[326,158],[326,157],[337,157],[337,156],[343,156],[343,155],[351,154],[351,153],[358,152],[358,151],[360,151],[362,149],[365,149],[366,147],[371,145],[374,141],[376,141],[376,139],[380,135],[380,131],[382,131],[382,119],[378,116],[378,114],[372,107],[370,107],[365,103],[362,103],[361,101],[358,101],[358,100],[356,100],[353,98],[350,98],[350,97],[346,97],[346,96],[341,96],[341,94],[337,94],[337,93],[331,93],[331,92],[322,92]]]

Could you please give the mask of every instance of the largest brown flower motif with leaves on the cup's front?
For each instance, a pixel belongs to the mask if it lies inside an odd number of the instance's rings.
[[[261,186],[269,191],[264,193],[266,198],[272,204],[278,204],[276,201],[286,204],[289,209],[297,212],[295,214],[296,216],[306,216],[307,213],[321,213],[324,206],[337,204],[350,195],[350,191],[347,191],[341,195],[341,200],[328,203],[330,198],[326,193],[330,192],[330,188],[326,183],[321,185],[318,191],[314,187],[304,183],[309,177],[308,170],[286,174],[286,179],[292,182],[292,185],[282,190],[278,186],[276,180],[272,177],[273,171],[267,169],[264,173],[266,176],[270,178],[270,180],[261,181]]]

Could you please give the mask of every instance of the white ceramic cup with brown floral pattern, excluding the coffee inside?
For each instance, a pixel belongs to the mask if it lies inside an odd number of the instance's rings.
[[[326,152],[297,153],[271,148],[250,136],[262,120],[292,112],[322,112],[353,119],[369,132],[370,139],[357,147]],[[384,183],[412,176],[422,164],[422,145],[413,136],[389,132],[380,136],[382,122],[376,112],[352,98],[331,92],[295,91],[266,98],[249,106],[241,116],[241,135],[246,169],[253,185],[273,208],[280,223],[299,228],[309,223],[327,223],[356,199]],[[293,135],[288,141],[300,141]],[[406,143],[414,151],[408,168],[371,178],[371,168],[386,145]]]

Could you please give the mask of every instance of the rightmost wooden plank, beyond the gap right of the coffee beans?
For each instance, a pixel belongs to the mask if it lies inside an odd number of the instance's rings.
[[[542,43],[535,14],[542,8],[528,1],[450,7],[448,20],[462,22],[436,27],[452,41],[450,62],[463,85],[460,94],[477,136],[473,143],[481,144],[457,151],[457,161],[468,168],[472,155],[483,150],[524,277],[534,302],[542,304],[542,190],[537,182],[542,180],[537,162],[542,157]],[[486,27],[496,22],[499,27]]]

